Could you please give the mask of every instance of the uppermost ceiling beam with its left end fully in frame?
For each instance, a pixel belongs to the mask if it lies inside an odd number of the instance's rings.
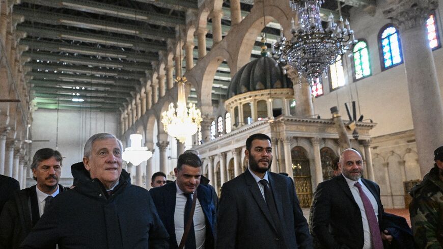
[[[23,15],[25,20],[31,22],[81,27],[84,29],[138,36],[159,41],[175,38],[175,32],[155,30],[137,25],[121,24],[117,21],[104,21],[87,17],[58,14],[49,11],[23,8],[20,6],[14,7],[14,13]]]

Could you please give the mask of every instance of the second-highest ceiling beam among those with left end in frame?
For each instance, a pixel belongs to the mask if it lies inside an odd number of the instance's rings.
[[[17,25],[17,31],[25,32],[27,35],[36,37],[74,40],[102,45],[127,47],[132,49],[139,49],[142,51],[159,52],[159,50],[166,50],[166,44],[162,44],[159,42],[145,42],[135,39],[119,38],[116,36],[96,35],[88,32],[76,32],[65,29],[33,26],[29,24]]]

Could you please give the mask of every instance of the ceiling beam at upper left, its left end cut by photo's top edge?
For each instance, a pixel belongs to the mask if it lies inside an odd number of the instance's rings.
[[[113,16],[132,21],[142,21],[150,24],[175,27],[185,24],[185,18],[160,14],[152,11],[126,8],[122,6],[99,3],[89,0],[21,0],[22,3],[37,4],[53,8],[67,8],[100,15]]]

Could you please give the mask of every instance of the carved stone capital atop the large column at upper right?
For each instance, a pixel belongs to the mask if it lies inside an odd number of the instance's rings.
[[[437,7],[437,0],[397,0],[383,10],[383,15],[391,19],[400,31],[404,32],[414,27],[424,28],[430,12]]]

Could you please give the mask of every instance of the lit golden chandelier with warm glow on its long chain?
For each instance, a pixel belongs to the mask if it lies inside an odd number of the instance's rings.
[[[180,35],[179,35],[180,37]],[[180,59],[181,59],[181,39],[180,39]],[[181,60],[180,60],[180,68]],[[169,104],[168,110],[161,114],[161,123],[163,123],[164,131],[170,136],[175,137],[180,143],[186,141],[186,137],[195,134],[202,122],[202,114],[196,105],[189,103],[186,107],[185,89],[184,85],[187,81],[186,77],[177,76],[178,98],[177,108],[174,108],[174,103]]]

